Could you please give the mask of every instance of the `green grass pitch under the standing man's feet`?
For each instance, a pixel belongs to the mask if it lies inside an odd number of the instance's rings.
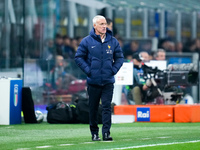
[[[88,124],[0,125],[0,150],[200,150],[200,123],[112,124],[111,136],[93,142]]]

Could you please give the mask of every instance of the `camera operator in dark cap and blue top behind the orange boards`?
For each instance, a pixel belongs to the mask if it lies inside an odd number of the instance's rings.
[[[151,81],[147,80],[146,83],[140,82],[140,72],[142,71],[142,60],[140,54],[135,53],[133,55],[133,81],[134,84],[131,87],[132,98],[136,105],[141,105],[145,101],[146,91],[151,86]]]

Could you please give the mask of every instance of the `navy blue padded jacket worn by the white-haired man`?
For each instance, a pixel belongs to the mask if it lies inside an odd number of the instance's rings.
[[[107,28],[106,39],[102,43],[94,28],[81,41],[75,62],[87,74],[88,84],[105,85],[114,83],[114,75],[123,64],[123,52],[112,32]]]

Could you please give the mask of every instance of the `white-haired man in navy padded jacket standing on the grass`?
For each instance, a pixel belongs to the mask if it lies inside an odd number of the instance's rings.
[[[93,18],[93,29],[83,38],[75,62],[87,74],[89,95],[90,131],[93,141],[100,141],[98,128],[98,107],[102,103],[102,135],[104,141],[112,141],[111,128],[111,101],[113,96],[114,75],[123,64],[123,52],[118,41],[107,28],[103,16]]]

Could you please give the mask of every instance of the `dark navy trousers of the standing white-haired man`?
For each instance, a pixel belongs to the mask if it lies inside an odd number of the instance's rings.
[[[101,100],[102,104],[102,135],[104,133],[110,134],[111,128],[111,101],[113,96],[113,84],[106,84],[104,86],[88,84],[89,95],[89,119],[91,134],[98,134],[98,107]]]

